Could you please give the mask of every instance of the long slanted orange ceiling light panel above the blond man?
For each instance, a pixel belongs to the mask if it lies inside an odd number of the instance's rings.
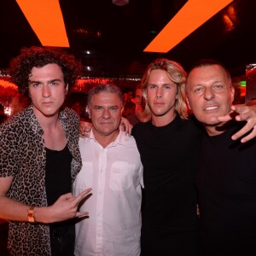
[[[189,0],[144,51],[166,53],[233,0]]]

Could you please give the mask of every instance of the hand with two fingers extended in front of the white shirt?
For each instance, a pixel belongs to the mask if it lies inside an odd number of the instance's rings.
[[[73,196],[71,193],[61,195],[52,206],[48,207],[50,212],[50,221],[48,223],[87,216],[89,214],[88,212],[78,212],[78,206],[79,202],[82,201],[90,191],[91,189],[85,189],[77,196]]]

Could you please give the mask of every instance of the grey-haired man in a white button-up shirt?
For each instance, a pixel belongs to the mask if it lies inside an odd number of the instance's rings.
[[[133,137],[119,131],[123,97],[113,84],[94,86],[87,112],[92,129],[80,138],[83,167],[73,184],[75,195],[92,188],[76,224],[75,255],[140,255],[143,165]]]

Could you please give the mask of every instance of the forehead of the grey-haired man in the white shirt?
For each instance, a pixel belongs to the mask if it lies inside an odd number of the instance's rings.
[[[119,95],[117,93],[100,92],[91,97],[91,104],[92,105],[111,106],[111,105],[120,105],[121,101],[120,101]]]

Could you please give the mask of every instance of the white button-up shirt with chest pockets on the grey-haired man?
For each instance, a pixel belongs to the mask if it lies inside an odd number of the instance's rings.
[[[73,193],[92,188],[92,195],[80,207],[90,217],[76,224],[75,255],[140,255],[143,165],[135,139],[120,131],[102,148],[90,131],[79,148],[83,166]]]

